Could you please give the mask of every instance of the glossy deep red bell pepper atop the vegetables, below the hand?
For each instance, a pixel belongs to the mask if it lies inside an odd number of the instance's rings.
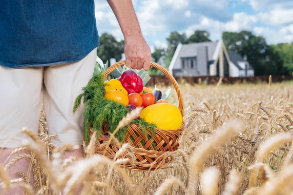
[[[126,89],[128,94],[140,93],[143,91],[143,79],[131,69],[123,71],[118,80],[120,80],[122,86]]]

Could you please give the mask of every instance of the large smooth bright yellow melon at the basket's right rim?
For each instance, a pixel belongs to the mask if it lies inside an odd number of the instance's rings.
[[[164,130],[179,129],[183,120],[179,109],[170,103],[157,103],[147,106],[142,110],[140,117]]]

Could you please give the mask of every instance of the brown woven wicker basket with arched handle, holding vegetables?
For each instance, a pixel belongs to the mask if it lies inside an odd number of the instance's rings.
[[[116,64],[110,66],[104,73],[105,78],[116,68],[125,65],[125,60],[117,62]],[[179,85],[176,82],[175,78],[173,78],[170,73],[161,65],[151,62],[152,67],[157,68],[161,72],[163,72],[167,78],[169,78],[177,92],[178,100],[179,100],[179,110],[181,115],[183,116],[183,99],[179,89]],[[142,132],[141,127],[136,124],[130,124],[127,127],[127,133],[124,140],[124,143],[129,143],[131,145],[131,149],[135,154],[135,166],[133,166],[133,162],[128,162],[123,166],[134,170],[134,171],[152,171],[159,168],[162,168],[168,165],[171,162],[171,157],[168,155],[168,152],[172,152],[178,149],[179,146],[179,138],[182,135],[182,131],[184,129],[184,122],[182,122],[182,126],[177,130],[162,130],[156,129],[156,135],[150,139],[146,138],[146,135]],[[110,136],[107,134],[109,132],[109,128],[106,123],[104,123],[102,135],[96,141],[95,153],[103,155],[105,153],[105,147],[107,141]],[[150,129],[147,129],[147,134],[152,135]],[[92,136],[93,130],[90,129],[90,136]],[[162,137],[161,139],[158,136]],[[134,142],[131,140],[131,137],[135,140]],[[141,141],[145,141],[145,146],[142,146]],[[152,143],[156,142],[156,147],[154,148]],[[113,159],[118,152],[119,147],[111,141],[109,147],[106,150],[105,156]],[[123,154],[122,157],[127,157],[127,152]],[[119,156],[121,157],[121,156]],[[130,156],[129,156],[130,158]]]

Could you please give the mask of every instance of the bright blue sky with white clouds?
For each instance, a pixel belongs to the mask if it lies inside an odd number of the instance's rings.
[[[293,42],[293,0],[132,0],[146,42],[167,47],[172,31],[190,36],[207,30],[212,41],[222,32],[252,31],[268,44]],[[95,0],[98,32],[123,39],[123,34],[106,0]]]

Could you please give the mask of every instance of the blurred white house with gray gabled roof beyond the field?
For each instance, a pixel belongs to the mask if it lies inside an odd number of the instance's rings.
[[[231,59],[230,59],[231,55]],[[238,54],[229,54],[223,40],[179,44],[169,66],[173,76],[248,77],[253,68]]]

